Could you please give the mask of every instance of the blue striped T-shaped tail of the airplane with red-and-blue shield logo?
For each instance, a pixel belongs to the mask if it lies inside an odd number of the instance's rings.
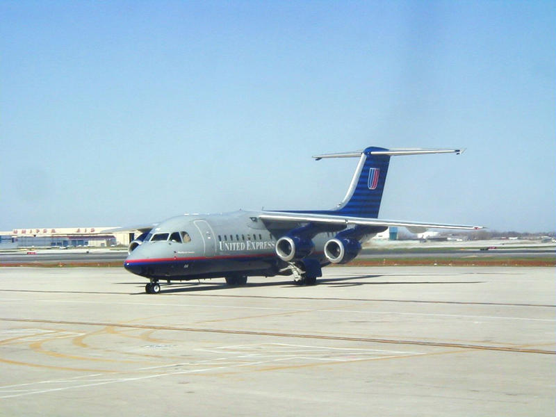
[[[336,210],[327,211],[326,213],[348,217],[377,218],[391,156],[460,154],[461,152],[463,152],[461,149],[384,149],[381,147],[368,147],[360,152],[313,156],[317,161],[322,158],[352,158],[359,156],[359,163],[353,174],[350,188],[347,189],[347,194],[342,202],[338,204]]]

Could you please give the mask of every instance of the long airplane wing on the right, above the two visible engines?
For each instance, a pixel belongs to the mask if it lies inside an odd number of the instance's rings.
[[[376,227],[406,227],[412,233],[422,233],[427,229],[460,229],[460,230],[479,230],[482,226],[468,226],[463,224],[439,224],[423,222],[405,222],[400,220],[379,220],[373,218],[356,218],[341,215],[322,215],[312,213],[295,213],[282,211],[264,211],[259,215],[263,222],[276,222],[285,224],[311,222],[317,224],[330,224],[338,226],[361,225]]]

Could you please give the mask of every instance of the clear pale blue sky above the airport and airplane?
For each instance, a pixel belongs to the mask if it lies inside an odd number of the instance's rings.
[[[0,230],[330,208],[556,229],[554,1],[0,1]]]

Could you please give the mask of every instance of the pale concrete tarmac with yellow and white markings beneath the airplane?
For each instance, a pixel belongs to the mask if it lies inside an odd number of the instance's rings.
[[[554,416],[554,268],[0,269],[1,416]]]

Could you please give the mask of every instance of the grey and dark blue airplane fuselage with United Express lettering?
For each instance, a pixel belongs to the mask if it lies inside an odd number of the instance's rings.
[[[169,281],[230,274],[291,274],[284,270],[287,263],[279,259],[275,250],[277,240],[290,229],[268,229],[259,214],[237,211],[170,218],[145,236],[129,254],[124,267],[149,279]],[[331,231],[316,234],[312,239],[314,249],[304,261],[329,264],[324,246],[334,235]]]

